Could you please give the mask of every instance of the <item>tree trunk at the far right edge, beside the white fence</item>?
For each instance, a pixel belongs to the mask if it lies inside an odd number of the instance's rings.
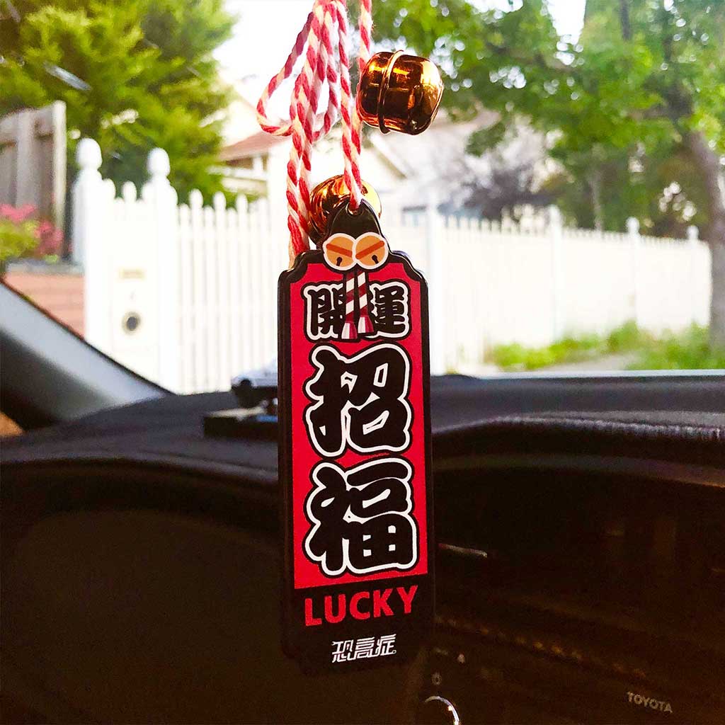
[[[710,205],[707,241],[712,252],[710,342],[725,348],[725,175],[720,157],[702,133],[688,133],[685,143],[703,175]]]

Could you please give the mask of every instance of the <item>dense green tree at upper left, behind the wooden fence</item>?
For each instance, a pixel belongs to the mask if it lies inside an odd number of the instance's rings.
[[[0,114],[65,101],[71,152],[95,138],[117,186],[143,183],[160,146],[182,198],[213,194],[228,90],[212,51],[232,27],[223,0],[13,0],[0,15]]]

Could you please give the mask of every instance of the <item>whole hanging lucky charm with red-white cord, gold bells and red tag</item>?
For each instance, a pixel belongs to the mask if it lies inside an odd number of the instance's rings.
[[[434,613],[428,289],[381,232],[360,138],[373,120],[384,133],[420,133],[442,84],[426,59],[371,57],[371,0],[359,1],[356,103],[345,0],[314,1],[257,103],[262,128],[292,138],[291,268],[278,286],[283,645],[307,671],[410,660]],[[289,120],[270,120],[270,97],[303,53]],[[310,193],[312,145],[336,115],[344,173]]]

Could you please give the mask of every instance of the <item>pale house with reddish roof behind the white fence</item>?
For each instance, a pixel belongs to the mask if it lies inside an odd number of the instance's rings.
[[[254,79],[237,83],[239,97],[229,109],[225,128],[226,145],[221,153],[225,186],[248,196],[265,196],[270,204],[285,204],[286,164],[291,140],[271,136],[257,123],[253,95]],[[383,210],[420,210],[428,204],[455,213],[463,207],[466,181],[484,177],[492,165],[531,163],[539,178],[550,173],[544,138],[522,126],[495,154],[474,157],[466,153],[473,131],[495,122],[494,112],[483,110],[469,120],[458,121],[443,110],[425,133],[405,136],[383,135],[377,129],[363,129],[360,159],[363,179],[381,197]],[[312,157],[313,186],[342,172],[344,164],[337,124],[315,144]]]

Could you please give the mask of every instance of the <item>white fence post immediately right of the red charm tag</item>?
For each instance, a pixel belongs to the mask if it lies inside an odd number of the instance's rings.
[[[428,326],[430,329],[431,375],[446,371],[446,257],[443,254],[441,215],[434,191],[428,195],[426,206],[426,278],[428,280]]]

